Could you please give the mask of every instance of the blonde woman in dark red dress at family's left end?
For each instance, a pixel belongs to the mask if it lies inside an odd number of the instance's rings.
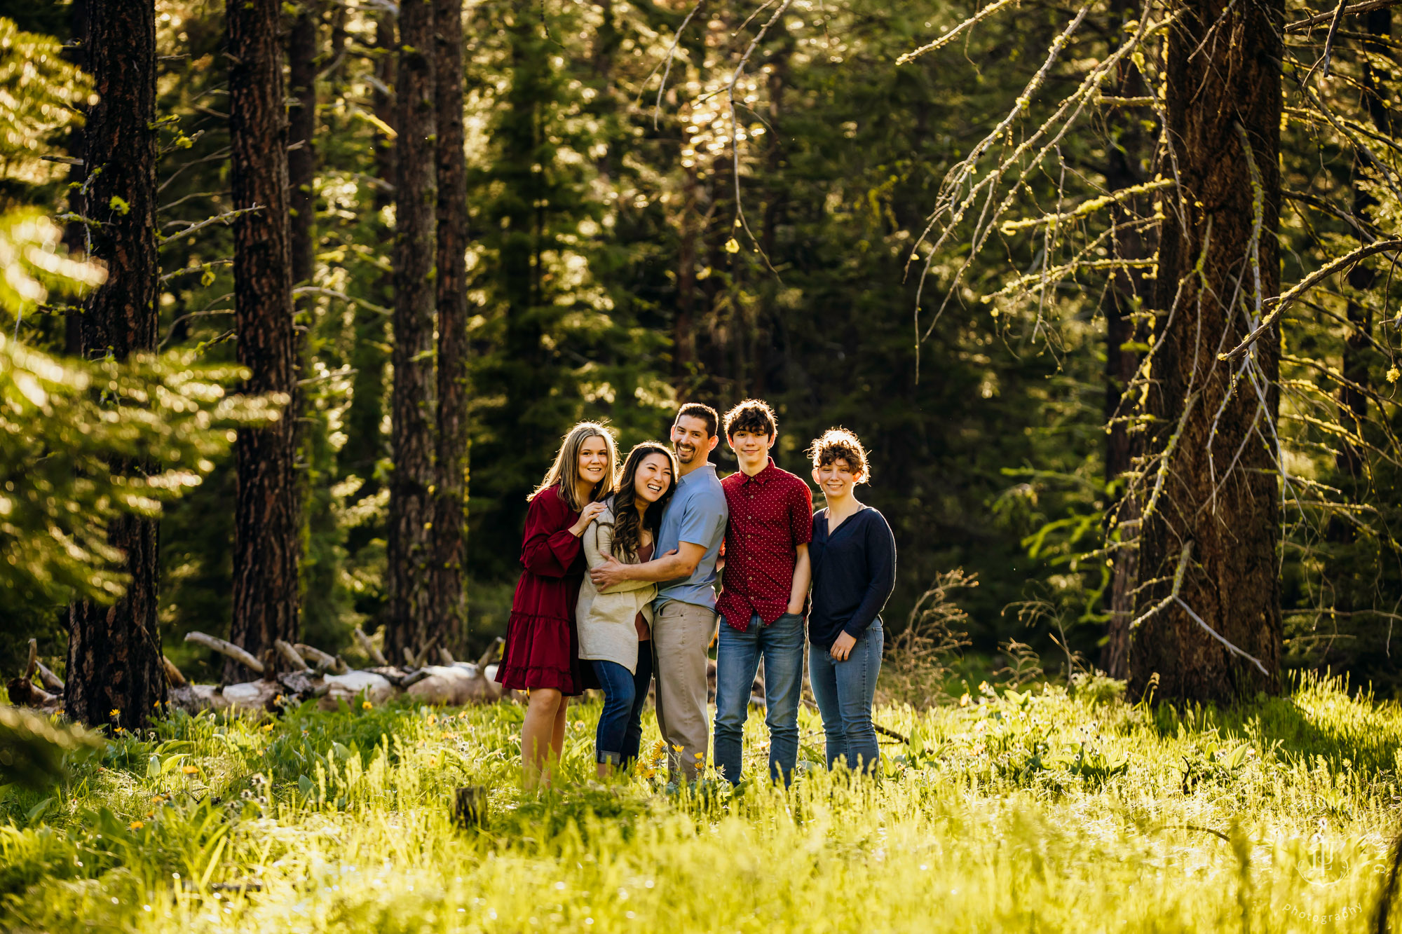
[[[550,760],[565,745],[568,697],[583,693],[575,603],[585,575],[580,536],[614,489],[618,461],[603,425],[575,425],[544,480],[530,495],[522,539],[522,578],[506,623],[506,649],[496,680],[529,690],[522,724],[526,787],[550,787]]]

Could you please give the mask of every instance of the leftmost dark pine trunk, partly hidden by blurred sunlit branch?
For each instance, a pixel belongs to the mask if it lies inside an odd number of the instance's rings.
[[[88,67],[98,95],[86,130],[93,257],[107,282],[80,328],[90,359],[156,349],[156,7],[151,0],[88,0]],[[114,474],[140,464],[112,463]],[[69,609],[64,707],[88,725],[143,726],[165,700],[156,620],[156,520],[123,516],[108,526],[130,583],[111,606]],[[116,717],[114,717],[114,711]]]

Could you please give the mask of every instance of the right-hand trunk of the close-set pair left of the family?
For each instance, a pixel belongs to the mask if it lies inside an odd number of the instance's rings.
[[[467,154],[463,137],[463,0],[433,0],[437,107],[437,452],[433,494],[430,635],[467,638],[463,534],[467,527]]]

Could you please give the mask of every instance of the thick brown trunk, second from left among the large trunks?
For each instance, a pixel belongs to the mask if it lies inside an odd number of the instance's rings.
[[[297,367],[287,226],[287,122],[278,0],[227,7],[229,128],[236,209],[234,320],[243,391],[287,400],[266,428],[238,429],[231,641],[254,655],[297,635],[301,509],[294,473]],[[251,677],[229,661],[226,680]]]

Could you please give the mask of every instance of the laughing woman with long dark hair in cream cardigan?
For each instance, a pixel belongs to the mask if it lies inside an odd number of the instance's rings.
[[[610,558],[622,564],[652,560],[662,510],[672,499],[676,477],[677,460],[666,446],[642,442],[628,452],[618,492],[608,498],[593,527],[585,533],[585,561],[590,568]],[[575,610],[579,658],[593,665],[604,690],[594,738],[600,778],[638,757],[642,703],[652,680],[652,599],[656,595],[658,585],[648,581],[624,581],[600,590],[587,575],[579,589]]]

